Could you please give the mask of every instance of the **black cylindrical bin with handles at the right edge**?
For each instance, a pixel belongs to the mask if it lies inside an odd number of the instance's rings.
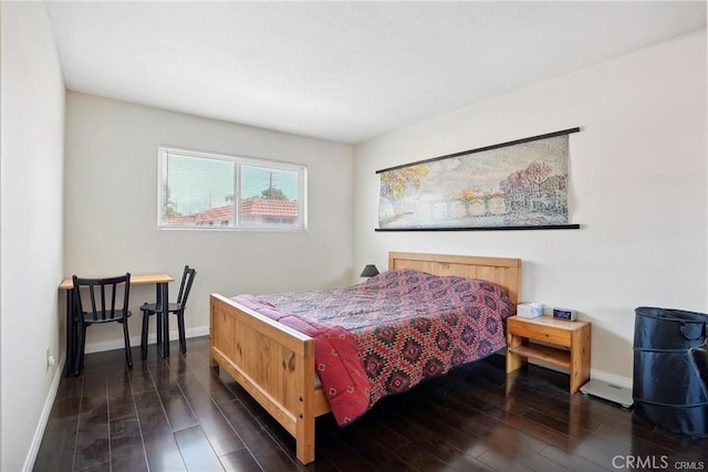
[[[669,431],[707,438],[708,387],[690,349],[706,343],[708,315],[649,306],[636,308],[635,315],[636,411]]]

